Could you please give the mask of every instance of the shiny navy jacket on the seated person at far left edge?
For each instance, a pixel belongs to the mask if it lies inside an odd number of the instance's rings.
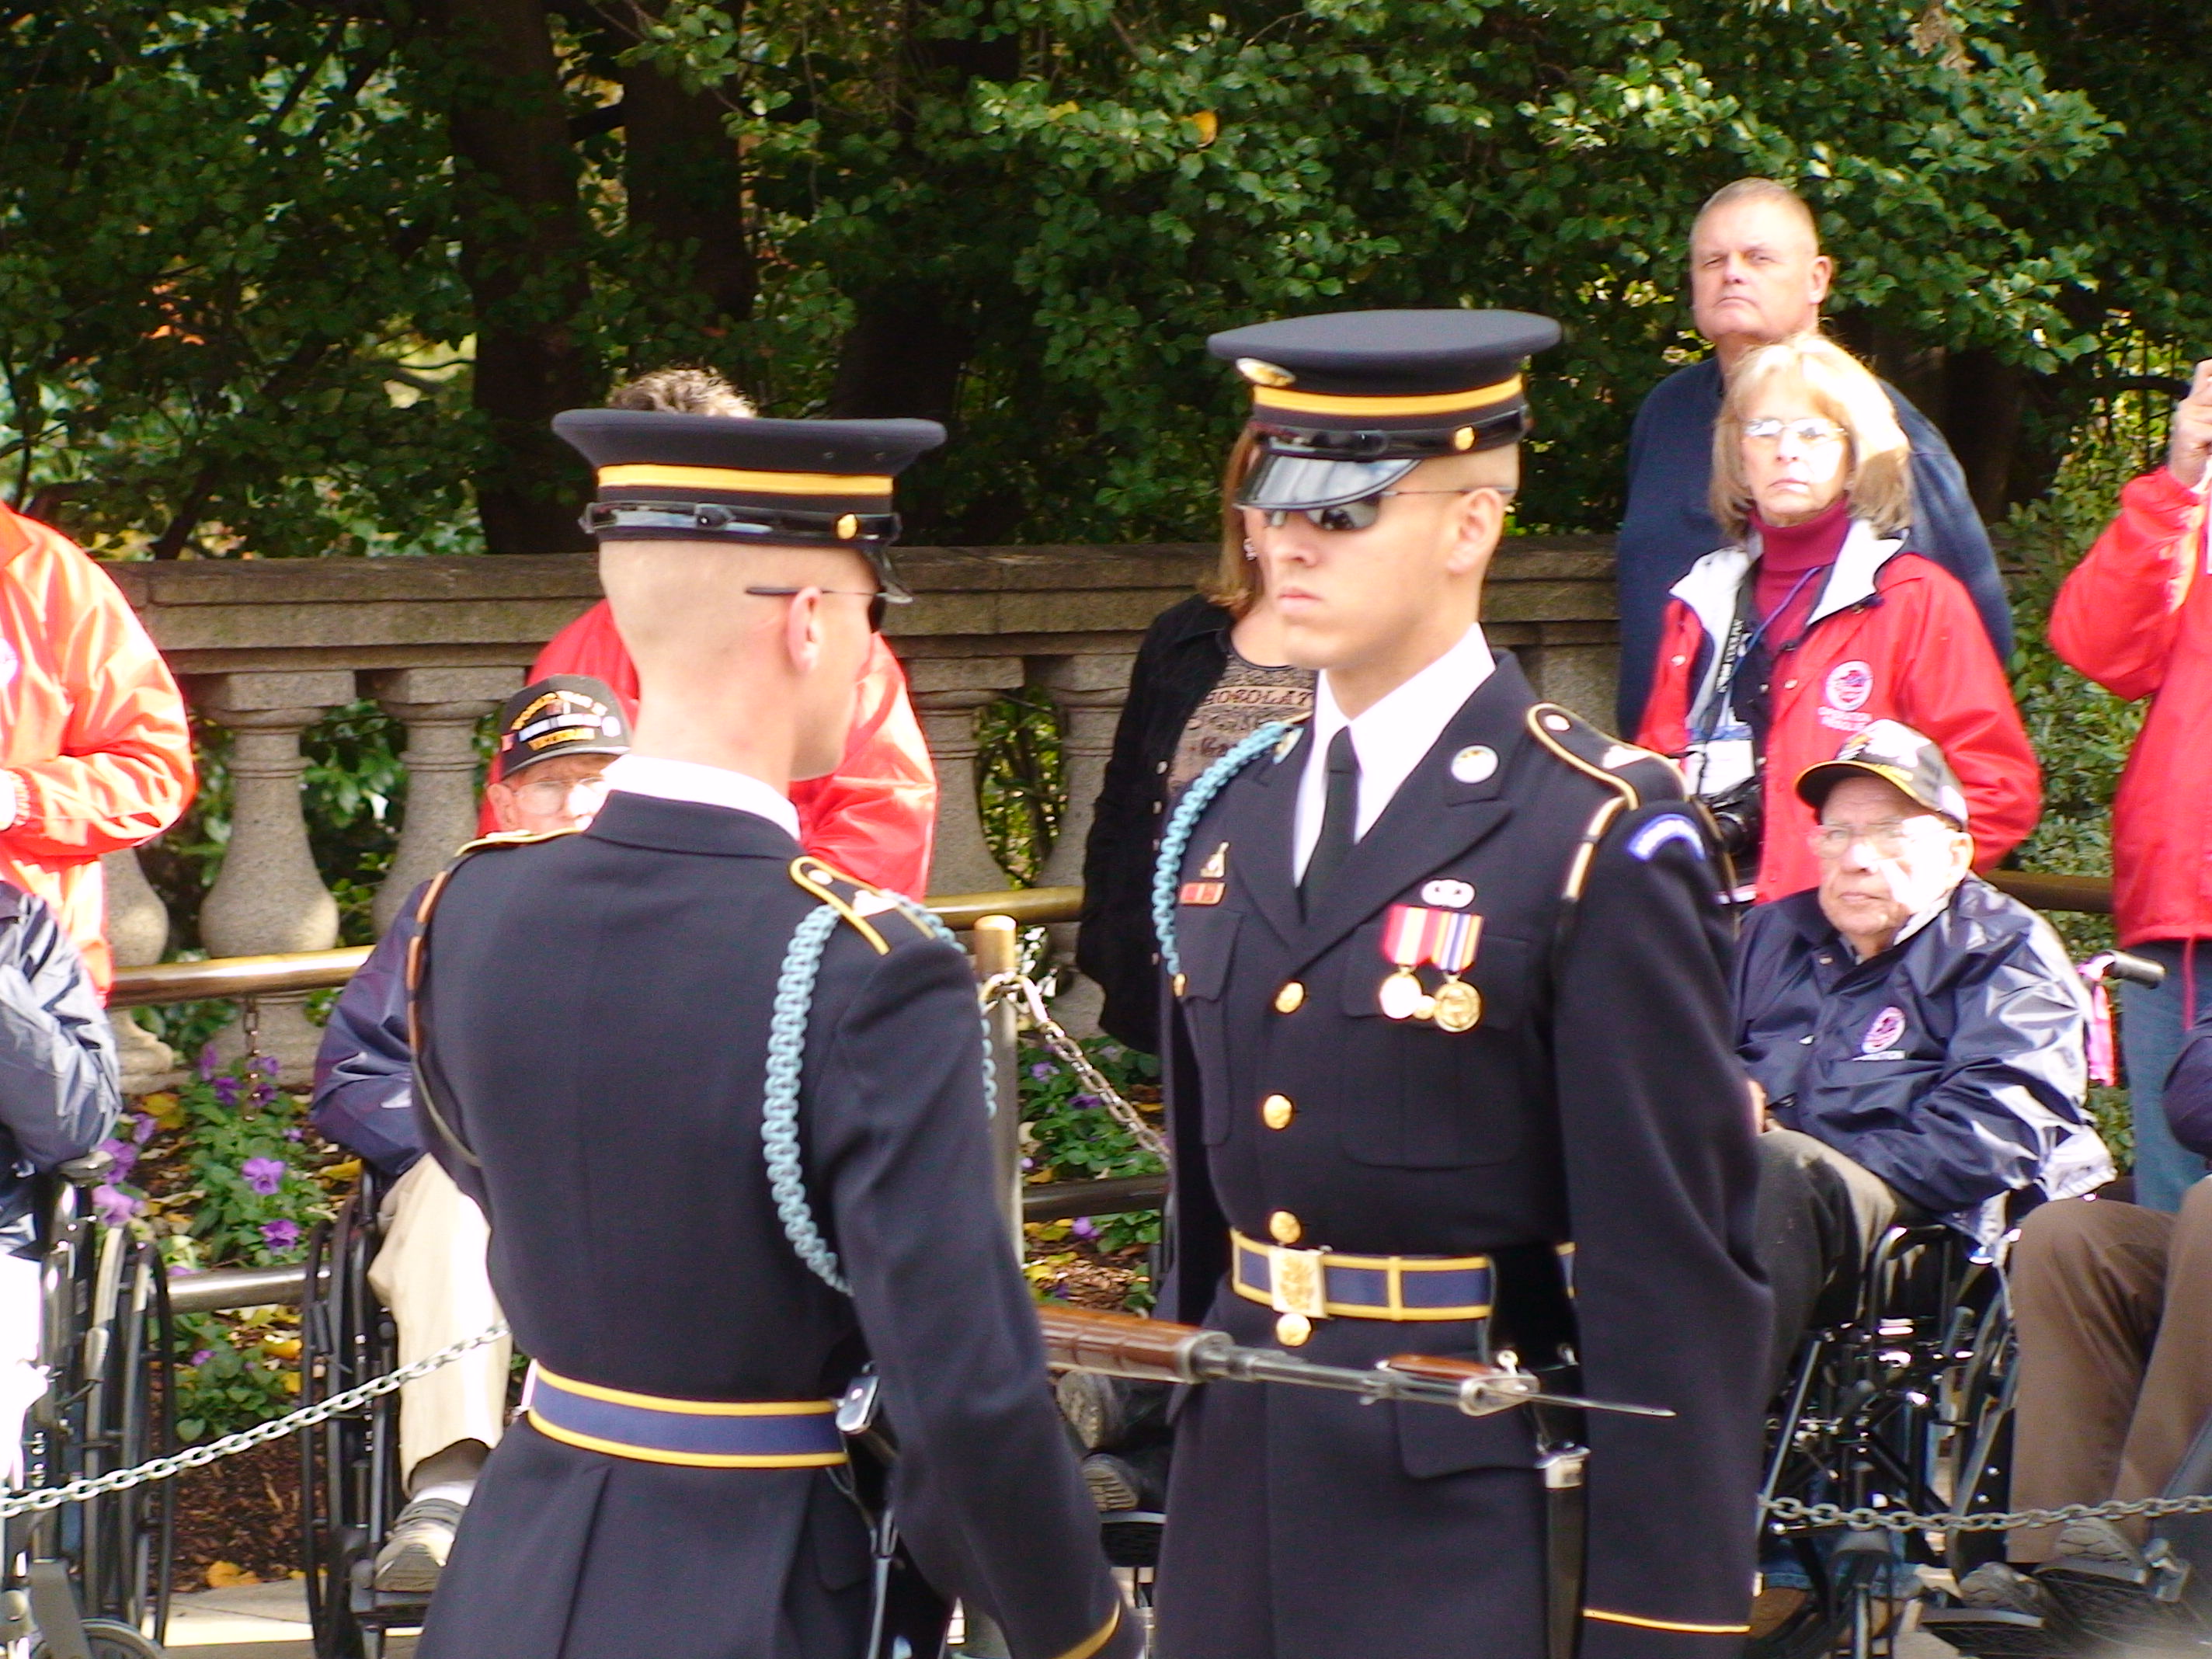
[[[38,1181],[115,1128],[115,1033],[53,911],[0,880],[0,1250],[33,1254]]]

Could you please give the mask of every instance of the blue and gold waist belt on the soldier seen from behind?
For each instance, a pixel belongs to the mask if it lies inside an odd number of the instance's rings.
[[[827,1469],[845,1462],[836,1400],[664,1400],[531,1365],[522,1411],[538,1433],[611,1458],[686,1469]]]

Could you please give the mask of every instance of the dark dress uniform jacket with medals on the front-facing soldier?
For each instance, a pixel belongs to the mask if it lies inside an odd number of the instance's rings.
[[[1228,1228],[1270,1239],[1285,1212],[1298,1248],[1491,1254],[1500,1343],[1535,1360],[1571,1336],[1584,1394],[1679,1413],[1588,1416],[1584,1657],[1734,1652],[1752,1593],[1767,1292],[1705,832],[1663,761],[1535,703],[1502,657],[1303,920],[1292,816],[1307,748],[1301,734],[1252,761],[1183,858],[1186,896],[1212,891],[1192,880],[1208,863],[1225,883],[1219,902],[1177,907],[1172,1006],[1199,1077],[1197,1115],[1172,1124],[1177,1316],[1272,1343],[1272,1312],[1223,1283],[1223,1245]],[[1460,772],[1475,781],[1453,776],[1467,750]],[[1486,774],[1480,750],[1495,761]],[[1436,878],[1469,883],[1467,909],[1482,916],[1467,973],[1482,1018],[1458,1035],[1378,1006],[1385,911],[1438,902],[1422,896]],[[1172,1099],[1190,1099],[1188,1082],[1170,1068]],[[1263,1108],[1272,1095],[1290,1110]],[[1327,1318],[1301,1352],[1371,1365],[1471,1354],[1480,1336],[1469,1323]],[[1526,1411],[1192,1394],[1161,1655],[1537,1659],[1533,1458]]]

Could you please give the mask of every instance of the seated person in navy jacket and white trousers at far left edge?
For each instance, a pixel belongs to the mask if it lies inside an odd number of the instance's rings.
[[[0,880],[0,1462],[22,1475],[40,1369],[40,1177],[100,1146],[122,1113],[115,1035],[44,900]]]

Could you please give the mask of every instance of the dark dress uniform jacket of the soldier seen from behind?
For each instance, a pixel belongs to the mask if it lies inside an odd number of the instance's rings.
[[[865,1360],[898,1517],[1018,1659],[1137,1650],[991,1203],[964,958],[896,909],[841,922],[807,1020],[801,1144],[852,1296],[763,1172],[779,967],[821,902],[748,812],[615,792],[584,834],[460,863],[425,940],[436,1155],[491,1219],[515,1343],[562,1378],[823,1400]],[[847,898],[865,889],[845,887]],[[1011,1110],[1013,1104],[1006,1104]],[[869,1553],[823,1469],[692,1469],[520,1422],[469,1504],[425,1659],[858,1659]]]

